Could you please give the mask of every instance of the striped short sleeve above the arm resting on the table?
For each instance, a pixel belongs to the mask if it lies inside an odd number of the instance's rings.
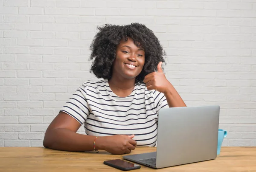
[[[85,85],[79,87],[60,110],[75,118],[81,125],[84,124],[90,114],[90,107],[86,100],[86,91]]]

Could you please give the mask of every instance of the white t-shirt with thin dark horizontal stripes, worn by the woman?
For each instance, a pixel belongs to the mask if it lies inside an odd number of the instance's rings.
[[[132,135],[138,147],[154,147],[160,108],[169,107],[163,93],[137,84],[127,97],[119,97],[108,79],[88,81],[61,109],[82,125],[87,135]]]

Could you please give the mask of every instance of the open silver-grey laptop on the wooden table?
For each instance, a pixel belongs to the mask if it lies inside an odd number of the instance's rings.
[[[155,169],[213,160],[217,157],[219,111],[218,105],[162,108],[157,152],[123,158]]]

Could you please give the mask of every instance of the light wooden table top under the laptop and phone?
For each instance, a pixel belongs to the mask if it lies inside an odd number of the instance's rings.
[[[156,147],[136,148],[131,154],[154,152]],[[0,147],[0,172],[121,172],[103,164],[123,155],[108,152],[65,152],[43,147]],[[222,147],[215,160],[131,172],[256,172],[256,147]]]

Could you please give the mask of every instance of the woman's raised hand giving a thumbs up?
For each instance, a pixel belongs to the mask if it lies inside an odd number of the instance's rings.
[[[148,90],[157,90],[164,94],[168,91],[168,88],[172,86],[163,73],[162,62],[158,63],[157,72],[146,75],[143,82],[146,84]]]

